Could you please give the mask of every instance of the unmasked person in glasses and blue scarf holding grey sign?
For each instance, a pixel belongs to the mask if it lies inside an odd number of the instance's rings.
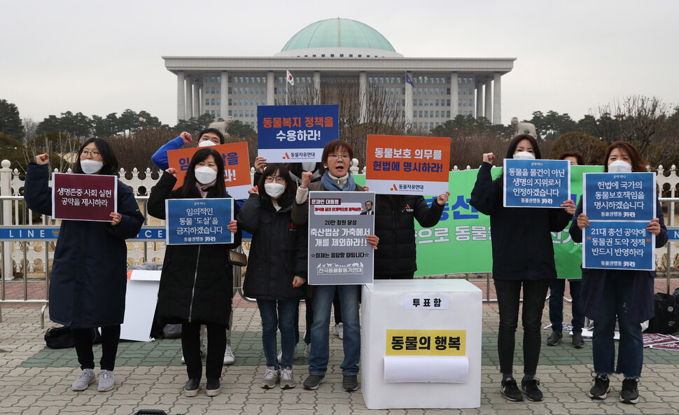
[[[366,190],[353,181],[349,173],[353,148],[346,141],[333,140],[323,148],[323,176],[321,181],[311,183],[311,172],[302,173],[302,185],[297,188],[293,205],[293,222],[304,225],[309,220],[309,190],[360,192]],[[374,235],[366,237],[367,242],[377,249]],[[360,323],[358,319],[359,286],[314,286],[314,323],[311,325],[311,352],[309,353],[309,376],[304,380],[304,389],[317,389],[325,381],[328,370],[330,346],[328,325],[330,324],[330,308],[335,290],[339,292],[342,304],[342,320],[344,325],[344,361],[342,368],[342,389],[347,392],[358,389],[358,360],[360,359]]]

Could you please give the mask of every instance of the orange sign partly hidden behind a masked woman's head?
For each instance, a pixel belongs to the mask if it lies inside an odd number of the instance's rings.
[[[229,194],[235,199],[247,198],[247,191],[252,186],[248,143],[241,141],[239,143],[211,146],[210,148],[213,148],[222,155],[222,160],[224,161],[224,184]],[[181,187],[184,183],[184,177],[191,163],[191,157],[200,149],[199,147],[180,148],[179,150],[167,152],[169,167],[174,167],[177,170],[175,189]]]

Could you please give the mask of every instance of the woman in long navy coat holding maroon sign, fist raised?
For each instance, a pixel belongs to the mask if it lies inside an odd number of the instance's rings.
[[[50,156],[36,156],[28,166],[24,198],[29,208],[52,214],[52,190],[48,187]],[[78,150],[75,174],[116,176],[118,159],[109,143],[89,139]],[[78,362],[83,372],[73,382],[73,391],[83,391],[94,381],[92,328],[102,328],[102,371],[98,391],[115,385],[113,368],[125,316],[127,290],[127,246],[141,230],[144,216],[129,187],[118,181],[118,212],[111,222],[62,220],[52,262],[50,319],[68,325],[73,333]]]

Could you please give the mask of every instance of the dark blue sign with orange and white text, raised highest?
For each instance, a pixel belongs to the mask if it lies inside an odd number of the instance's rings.
[[[257,154],[269,163],[320,162],[323,147],[339,139],[337,105],[257,107]]]

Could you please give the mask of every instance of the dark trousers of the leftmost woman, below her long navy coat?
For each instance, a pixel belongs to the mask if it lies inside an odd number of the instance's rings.
[[[78,354],[80,369],[94,369],[94,353],[92,352],[92,329],[71,328],[73,344]],[[99,365],[102,370],[111,370],[116,367],[116,353],[120,342],[120,325],[102,327],[102,360]]]

